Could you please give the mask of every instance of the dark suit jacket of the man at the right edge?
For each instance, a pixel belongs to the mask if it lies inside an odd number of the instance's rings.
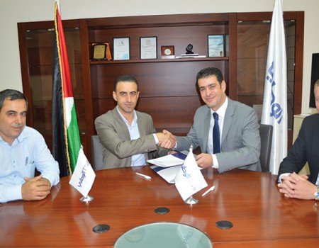
[[[298,173],[308,162],[309,181],[315,184],[319,171],[319,114],[307,116],[293,147],[279,167],[279,173]]]

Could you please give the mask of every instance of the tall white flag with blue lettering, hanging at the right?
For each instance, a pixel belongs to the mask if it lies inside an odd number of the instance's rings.
[[[269,166],[272,174],[278,174],[287,154],[286,43],[281,0],[275,0],[272,13],[261,123],[274,127]]]

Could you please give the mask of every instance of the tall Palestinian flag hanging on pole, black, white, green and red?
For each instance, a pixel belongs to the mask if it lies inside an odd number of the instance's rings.
[[[52,71],[52,154],[60,165],[60,176],[69,176],[77,165],[81,140],[59,0],[55,1]]]

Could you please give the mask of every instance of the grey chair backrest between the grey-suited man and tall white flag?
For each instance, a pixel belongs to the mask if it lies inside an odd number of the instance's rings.
[[[260,164],[262,165],[262,171],[270,172],[269,160],[270,152],[272,150],[272,125],[260,124],[259,134],[260,134]]]

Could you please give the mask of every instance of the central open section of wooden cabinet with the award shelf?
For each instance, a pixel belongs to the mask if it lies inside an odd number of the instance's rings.
[[[186,46],[208,55],[208,35],[229,33],[228,14],[139,16],[87,21],[89,43],[105,42],[113,49],[113,38],[130,38],[130,60],[90,61],[93,118],[114,108],[113,81],[120,74],[133,74],[139,81],[138,110],[149,113],[157,130],[188,133],[201,98],[196,73],[218,67],[228,79],[229,57],[161,59],[161,46],[173,45],[176,56]],[[157,60],[140,60],[140,38],[157,37]]]

